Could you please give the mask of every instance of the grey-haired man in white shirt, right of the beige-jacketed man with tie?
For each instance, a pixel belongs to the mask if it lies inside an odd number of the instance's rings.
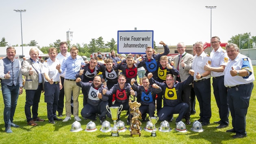
[[[204,53],[203,47],[204,44],[202,42],[195,43],[196,55],[192,62],[192,69],[195,71],[194,90],[200,107],[200,119],[198,121],[202,125],[208,125],[212,116],[210,107],[210,71],[204,70],[204,65],[211,66],[211,59],[209,55]]]

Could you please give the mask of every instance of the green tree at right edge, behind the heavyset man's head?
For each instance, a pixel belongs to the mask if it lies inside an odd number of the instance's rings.
[[[228,43],[234,43],[236,44],[239,49],[249,49],[252,48],[252,42],[256,41],[256,36],[251,36],[251,32],[249,33],[243,33],[238,34],[235,36],[232,36],[230,40],[228,40]],[[249,45],[250,42],[250,45]]]

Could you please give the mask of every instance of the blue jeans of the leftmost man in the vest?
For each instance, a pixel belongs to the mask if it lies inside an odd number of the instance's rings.
[[[2,94],[4,99],[4,123],[5,127],[11,127],[16,109],[20,86],[9,86],[2,83]]]

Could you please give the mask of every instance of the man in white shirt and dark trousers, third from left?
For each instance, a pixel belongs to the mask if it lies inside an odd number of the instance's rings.
[[[56,117],[56,110],[58,108],[60,89],[62,89],[61,77],[56,69],[59,65],[59,60],[56,59],[57,49],[51,47],[48,50],[50,59],[43,63],[42,74],[44,75],[44,88],[47,91],[44,92],[44,101],[47,103],[47,117],[49,123],[54,124],[55,121],[61,121]]]

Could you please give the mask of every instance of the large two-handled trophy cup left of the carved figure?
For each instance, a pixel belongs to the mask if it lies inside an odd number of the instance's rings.
[[[118,135],[118,129],[117,129],[117,119],[118,119],[118,115],[121,112],[121,110],[123,109],[123,105],[120,105],[120,107],[118,106],[111,106],[108,107],[108,105],[106,106],[106,109],[108,110],[108,112],[111,114],[111,118],[114,121],[114,127],[112,128],[112,132],[111,135],[112,136],[119,136]]]

